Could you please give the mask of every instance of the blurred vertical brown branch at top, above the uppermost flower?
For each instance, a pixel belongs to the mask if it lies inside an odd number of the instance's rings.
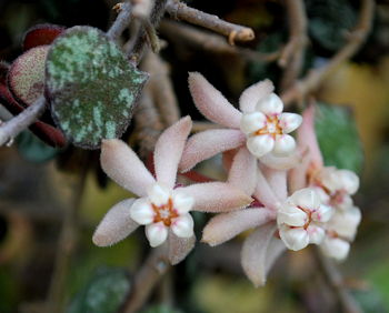
[[[289,17],[289,42],[283,48],[278,61],[285,68],[281,90],[286,90],[298,79],[305,58],[307,38],[307,16],[302,0],[287,0]]]

